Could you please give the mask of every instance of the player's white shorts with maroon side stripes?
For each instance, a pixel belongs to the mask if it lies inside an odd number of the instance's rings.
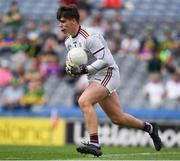
[[[104,74],[102,74],[104,73]],[[96,73],[89,78],[89,82],[97,82],[108,89],[110,93],[116,91],[120,86],[120,73],[118,68],[108,67],[101,74]]]

